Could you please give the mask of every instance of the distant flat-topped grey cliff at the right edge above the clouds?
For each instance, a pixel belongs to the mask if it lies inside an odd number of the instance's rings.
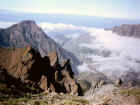
[[[136,25],[123,24],[121,26],[113,27],[112,31],[122,36],[140,38],[140,24]]]

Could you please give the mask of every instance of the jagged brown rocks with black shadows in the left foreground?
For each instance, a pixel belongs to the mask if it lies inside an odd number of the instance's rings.
[[[20,81],[43,91],[78,95],[79,88],[74,80],[70,62],[67,60],[60,65],[57,52],[42,58],[31,47],[0,48],[0,67],[6,73],[5,76],[0,75],[0,80],[6,80],[7,75],[14,78],[14,81],[5,81],[9,86]]]

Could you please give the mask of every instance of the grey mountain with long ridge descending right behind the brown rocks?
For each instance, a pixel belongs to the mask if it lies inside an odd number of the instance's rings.
[[[72,53],[61,48],[34,21],[30,20],[22,21],[6,29],[1,29],[0,45],[19,48],[31,46],[38,50],[42,57],[48,55],[50,52],[56,51],[60,61],[71,59],[72,68],[75,73],[77,73],[75,66],[80,63]]]

